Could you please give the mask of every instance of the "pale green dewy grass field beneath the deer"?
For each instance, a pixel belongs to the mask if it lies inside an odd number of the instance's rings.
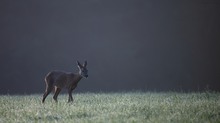
[[[0,122],[220,123],[220,93],[77,93],[0,96]]]

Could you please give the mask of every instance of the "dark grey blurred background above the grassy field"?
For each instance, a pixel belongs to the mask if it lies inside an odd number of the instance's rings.
[[[51,70],[78,92],[220,91],[219,0],[1,0],[0,94],[43,93]]]

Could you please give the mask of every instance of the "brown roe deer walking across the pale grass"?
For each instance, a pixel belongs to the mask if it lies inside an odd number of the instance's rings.
[[[73,101],[72,91],[76,88],[78,82],[83,78],[88,77],[88,70],[86,68],[87,61],[81,65],[77,61],[79,68],[78,73],[67,73],[62,71],[51,71],[45,77],[46,91],[43,95],[42,103],[44,103],[46,97],[55,88],[53,99],[57,102],[57,96],[63,88],[68,89],[69,99],[68,102]]]

